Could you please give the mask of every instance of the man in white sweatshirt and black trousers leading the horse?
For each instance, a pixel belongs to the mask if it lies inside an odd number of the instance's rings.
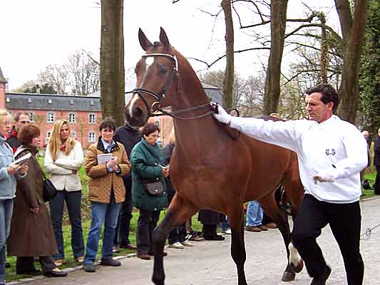
[[[331,269],[316,239],[329,224],[344,259],[347,282],[359,285],[364,275],[359,172],[367,164],[366,141],[354,125],[333,115],[339,98],[332,86],[308,89],[305,103],[309,120],[237,118],[220,106],[214,117],[252,138],[297,152],[305,195],[294,221],[292,244],[313,277],[311,284],[325,284]]]

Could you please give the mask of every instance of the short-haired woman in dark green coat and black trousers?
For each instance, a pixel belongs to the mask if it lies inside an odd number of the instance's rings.
[[[169,169],[164,166],[163,154],[157,144],[160,138],[158,125],[148,123],[141,134],[143,138],[130,153],[132,200],[133,206],[140,210],[136,233],[137,257],[148,260],[153,256],[152,234],[160,218],[160,211],[168,206],[164,178],[168,177]],[[149,182],[161,182],[163,192],[158,195],[149,194],[145,189],[145,183]]]

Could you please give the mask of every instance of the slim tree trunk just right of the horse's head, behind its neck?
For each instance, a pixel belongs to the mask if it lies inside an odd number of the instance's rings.
[[[225,13],[225,46],[226,66],[223,81],[223,106],[232,108],[232,94],[234,87],[234,25],[232,21],[231,1],[222,0],[222,9]]]

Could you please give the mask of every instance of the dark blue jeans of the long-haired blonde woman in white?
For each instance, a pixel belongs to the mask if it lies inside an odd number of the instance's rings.
[[[54,259],[65,258],[63,246],[62,218],[63,203],[66,201],[68,219],[71,224],[71,248],[74,258],[83,257],[84,242],[81,219],[81,191],[57,191],[56,197],[50,201],[51,224],[56,237],[58,253],[53,255]]]

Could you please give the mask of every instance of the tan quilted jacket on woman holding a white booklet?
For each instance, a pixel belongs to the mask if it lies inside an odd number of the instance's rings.
[[[130,162],[125,152],[125,148],[119,142],[115,142],[111,153],[118,157],[118,166],[121,172],[108,172],[106,164],[98,165],[97,155],[107,153],[104,150],[103,142],[99,138],[97,143],[94,143],[88,148],[84,168],[86,174],[90,177],[88,182],[88,199],[92,202],[110,203],[111,189],[115,195],[116,203],[124,202],[125,187],[123,176],[130,172]]]

